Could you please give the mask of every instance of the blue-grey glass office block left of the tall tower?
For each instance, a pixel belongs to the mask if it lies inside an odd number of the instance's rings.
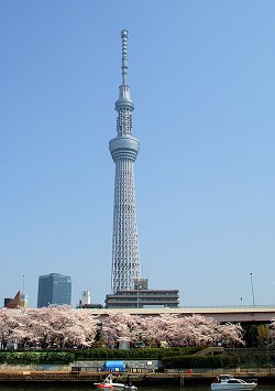
[[[72,304],[70,276],[58,273],[40,275],[37,308],[47,307],[50,304]]]

